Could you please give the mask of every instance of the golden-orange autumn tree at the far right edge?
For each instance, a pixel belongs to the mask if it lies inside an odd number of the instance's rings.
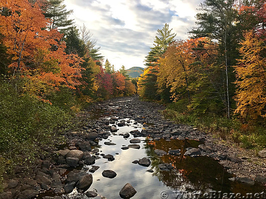
[[[254,31],[241,42],[242,58],[235,66],[237,73],[237,109],[242,117],[266,117],[266,44]]]

